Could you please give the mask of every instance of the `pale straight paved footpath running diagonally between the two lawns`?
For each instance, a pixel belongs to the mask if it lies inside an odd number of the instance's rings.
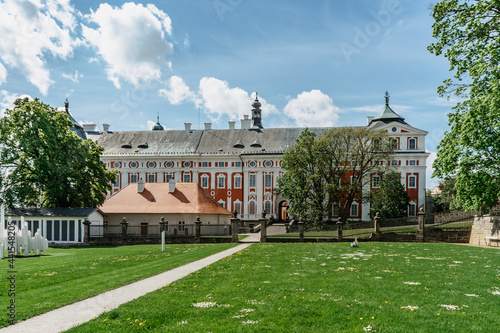
[[[116,309],[147,293],[163,288],[178,279],[188,276],[214,262],[239,252],[252,244],[241,244],[229,250],[213,254],[204,259],[194,261],[166,271],[164,273],[140,280],[126,286],[87,298],[77,303],[63,306],[59,309],[26,319],[15,325],[0,329],[1,333],[44,333],[63,332],[74,326],[83,324],[103,312]]]

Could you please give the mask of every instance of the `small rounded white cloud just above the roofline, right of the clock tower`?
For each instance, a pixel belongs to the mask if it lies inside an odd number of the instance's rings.
[[[329,127],[338,121],[339,108],[332,99],[320,90],[304,91],[288,102],[285,113],[299,127]]]

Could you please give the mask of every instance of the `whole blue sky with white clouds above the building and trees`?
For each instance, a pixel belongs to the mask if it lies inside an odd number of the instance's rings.
[[[264,127],[344,126],[366,124],[389,91],[392,108],[429,132],[430,163],[453,106],[436,94],[450,75],[426,49],[430,5],[0,0],[0,110],[21,96],[68,98],[99,128],[148,130],[157,114],[169,129],[227,128],[258,91]]]

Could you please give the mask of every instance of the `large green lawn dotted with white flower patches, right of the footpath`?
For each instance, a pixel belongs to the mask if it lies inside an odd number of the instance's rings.
[[[498,332],[500,251],[255,244],[69,332]]]

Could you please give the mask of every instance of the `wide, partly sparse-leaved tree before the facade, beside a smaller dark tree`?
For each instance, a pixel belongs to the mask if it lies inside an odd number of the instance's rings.
[[[283,155],[278,187],[309,223],[331,220],[336,205],[346,221],[352,203],[366,201],[371,174],[390,169],[393,153],[387,134],[367,127],[333,128],[319,138],[306,129]]]

